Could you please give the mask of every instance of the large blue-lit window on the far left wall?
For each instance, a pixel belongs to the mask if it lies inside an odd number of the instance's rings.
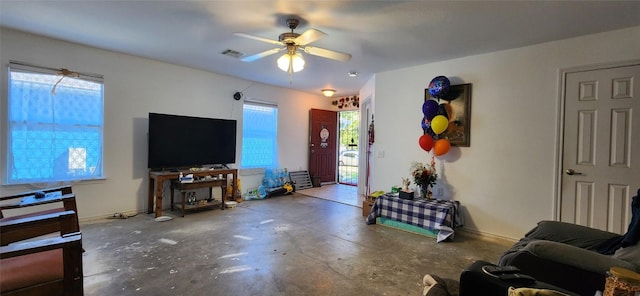
[[[8,184],[102,178],[102,76],[9,64]]]

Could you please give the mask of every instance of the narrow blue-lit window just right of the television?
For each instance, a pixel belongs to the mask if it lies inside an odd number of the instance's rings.
[[[241,167],[278,166],[278,107],[245,102],[242,108]]]

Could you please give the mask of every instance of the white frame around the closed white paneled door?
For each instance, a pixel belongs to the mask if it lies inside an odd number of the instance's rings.
[[[627,61],[612,62],[612,63],[600,63],[585,66],[560,68],[558,71],[558,113],[556,114],[556,157],[554,164],[554,184],[555,189],[554,203],[553,203],[553,219],[560,220],[560,203],[562,202],[562,163],[563,163],[563,149],[564,149],[564,112],[565,112],[565,81],[566,77],[570,73],[602,70],[607,68],[617,68],[623,66],[631,66],[640,64],[640,59],[632,59]]]

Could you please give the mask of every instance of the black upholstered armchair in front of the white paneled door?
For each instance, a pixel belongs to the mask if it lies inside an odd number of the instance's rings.
[[[499,259],[499,265],[513,265],[523,273],[554,286],[594,295],[603,291],[607,271],[618,266],[640,271],[640,247],[618,248],[612,255],[598,247],[623,236],[581,225],[542,221]]]

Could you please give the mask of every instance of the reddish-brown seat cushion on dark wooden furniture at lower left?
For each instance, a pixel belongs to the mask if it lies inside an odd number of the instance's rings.
[[[63,277],[61,249],[2,259],[0,294]]]

